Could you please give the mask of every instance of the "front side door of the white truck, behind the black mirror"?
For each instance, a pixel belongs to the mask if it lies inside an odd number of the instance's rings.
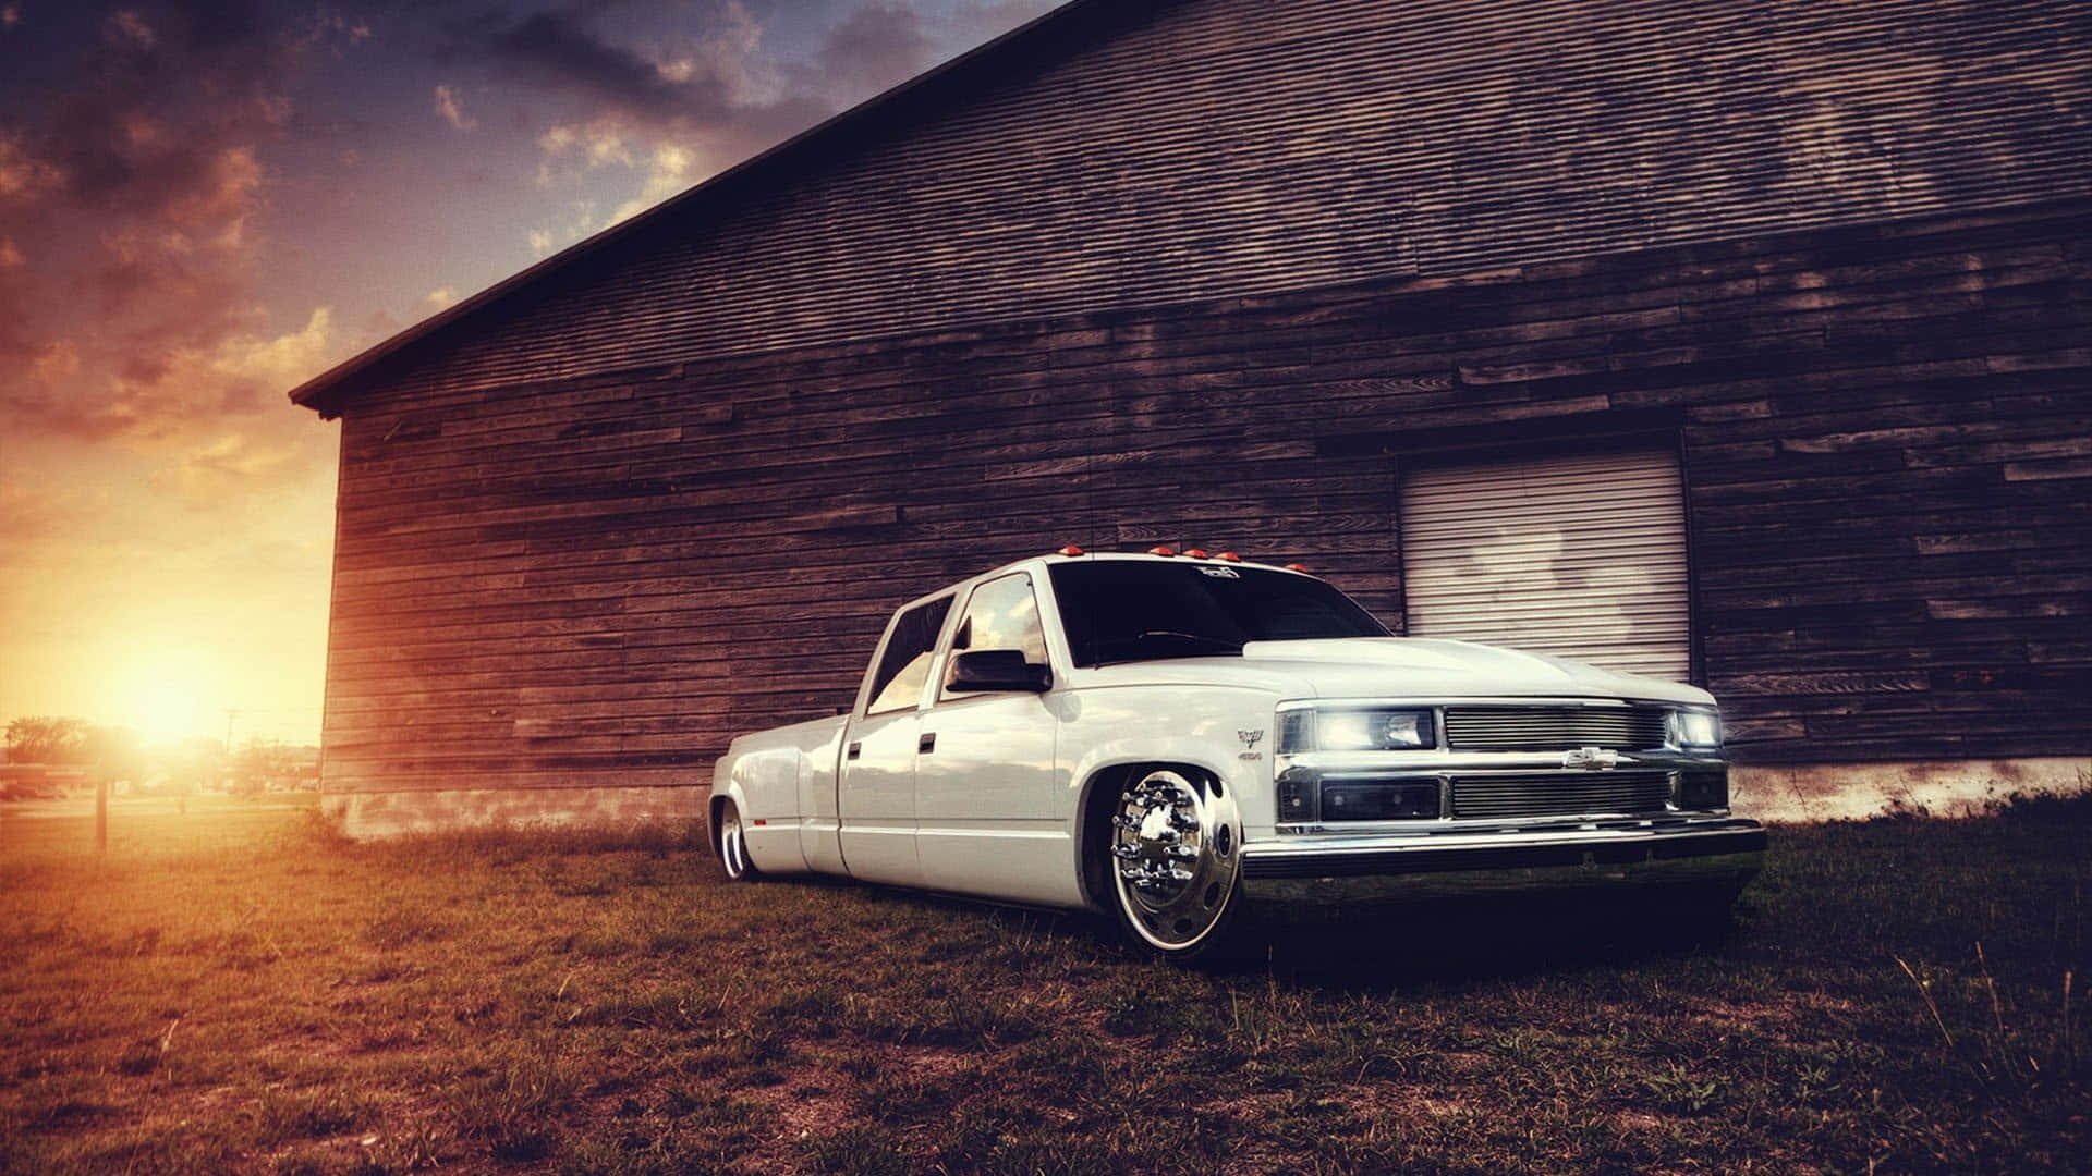
[[[916,757],[916,854],[923,885],[1015,902],[1079,904],[1069,822],[1054,776],[1056,720],[1031,691],[956,693],[956,655],[1017,649],[1046,665],[1031,575],[973,590],[952,630]]]

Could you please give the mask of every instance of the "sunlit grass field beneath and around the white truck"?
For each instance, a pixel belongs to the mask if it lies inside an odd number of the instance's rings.
[[[2084,1172],[2092,801],[1782,829],[1734,933],[1182,973],[695,837],[0,814],[10,1172]],[[1477,929],[1483,927],[1483,929]]]

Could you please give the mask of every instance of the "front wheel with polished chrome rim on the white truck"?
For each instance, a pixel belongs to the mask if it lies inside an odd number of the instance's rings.
[[[1140,768],[1117,789],[1100,837],[1111,910],[1134,950],[1211,963],[1238,946],[1243,822],[1220,781]]]

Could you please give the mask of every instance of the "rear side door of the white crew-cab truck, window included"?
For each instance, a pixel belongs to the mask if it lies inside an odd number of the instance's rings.
[[[952,596],[902,609],[872,659],[860,711],[843,730],[835,808],[851,877],[923,885],[916,862],[916,737],[929,668]]]

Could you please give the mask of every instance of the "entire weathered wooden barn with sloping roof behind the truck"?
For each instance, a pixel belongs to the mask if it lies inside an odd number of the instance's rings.
[[[2067,778],[2088,278],[2086,0],[1075,0],[291,393],[326,806],[697,814],[1065,542],[1690,678],[1745,810]]]

